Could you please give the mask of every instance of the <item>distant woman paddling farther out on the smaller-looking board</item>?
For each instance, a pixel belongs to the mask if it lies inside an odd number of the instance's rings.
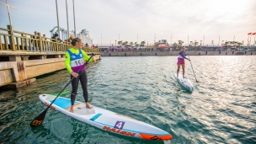
[[[180,68],[180,65],[182,67],[182,72],[183,72],[183,78],[186,78],[184,77],[185,75],[185,59],[189,60],[189,58],[186,57],[186,53],[185,53],[185,46],[183,46],[181,48],[181,51],[179,51],[179,56],[178,56],[178,62],[177,62],[177,65],[178,65],[178,70],[177,70],[177,77],[179,77],[179,68]],[[190,61],[190,60],[189,60]]]

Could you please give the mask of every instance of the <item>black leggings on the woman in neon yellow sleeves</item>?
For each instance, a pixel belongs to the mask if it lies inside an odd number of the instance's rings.
[[[80,71],[78,74],[79,75],[72,80],[72,93],[71,93],[72,105],[74,105],[76,101],[76,94],[77,94],[79,80],[83,88],[83,98],[85,100],[85,103],[88,102],[88,89],[87,89],[88,79],[87,79],[86,70]],[[73,76],[71,75],[71,78],[72,77]]]

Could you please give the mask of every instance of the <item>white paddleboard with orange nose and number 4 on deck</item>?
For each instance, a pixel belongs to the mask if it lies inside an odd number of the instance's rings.
[[[56,96],[51,94],[40,94],[40,100],[45,105],[50,105]],[[58,97],[51,104],[51,109],[56,109],[65,115],[83,121],[89,125],[98,127],[101,130],[113,132],[123,136],[141,138],[144,140],[171,140],[168,132],[163,131],[156,126],[149,125],[139,120],[132,119],[125,115],[120,115],[106,109],[93,106],[93,109],[88,109],[82,102],[76,101],[74,104],[74,113],[70,110],[71,100],[63,97]]]

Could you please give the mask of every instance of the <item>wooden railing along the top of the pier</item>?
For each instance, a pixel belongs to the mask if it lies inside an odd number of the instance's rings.
[[[72,45],[69,41],[61,41],[43,37],[40,33],[35,35],[13,30],[8,25],[8,29],[0,27],[0,51],[24,51],[24,52],[64,52]],[[85,52],[99,53],[98,48],[83,47]]]

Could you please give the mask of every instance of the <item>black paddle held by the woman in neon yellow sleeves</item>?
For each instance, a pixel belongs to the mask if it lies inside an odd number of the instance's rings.
[[[94,54],[92,53],[92,56],[90,56],[90,58],[88,59],[88,61],[90,61],[90,59],[91,59],[93,56],[94,56]],[[85,67],[85,66],[88,64],[88,61],[86,61],[86,62],[83,64],[83,67]],[[80,72],[83,67],[81,67],[81,68],[78,70],[78,72]],[[78,72],[77,72],[77,73],[78,73]],[[69,82],[66,84],[66,86],[61,90],[61,92],[56,96],[56,98],[53,99],[53,101],[51,102],[51,104],[54,103],[54,101],[61,95],[61,93],[64,91],[65,88],[67,88],[68,84],[71,83],[73,79],[74,79],[74,77],[72,77],[72,78],[70,79],[70,81],[69,81]],[[51,107],[51,104],[49,104],[48,107],[47,107],[43,112],[40,113],[40,115],[38,115],[37,117],[35,117],[35,119],[30,123],[30,126],[31,126],[31,127],[37,127],[37,126],[39,126],[39,125],[41,125],[41,124],[43,123],[43,121],[44,121],[44,119],[45,119],[46,112],[47,112],[47,110]]]

